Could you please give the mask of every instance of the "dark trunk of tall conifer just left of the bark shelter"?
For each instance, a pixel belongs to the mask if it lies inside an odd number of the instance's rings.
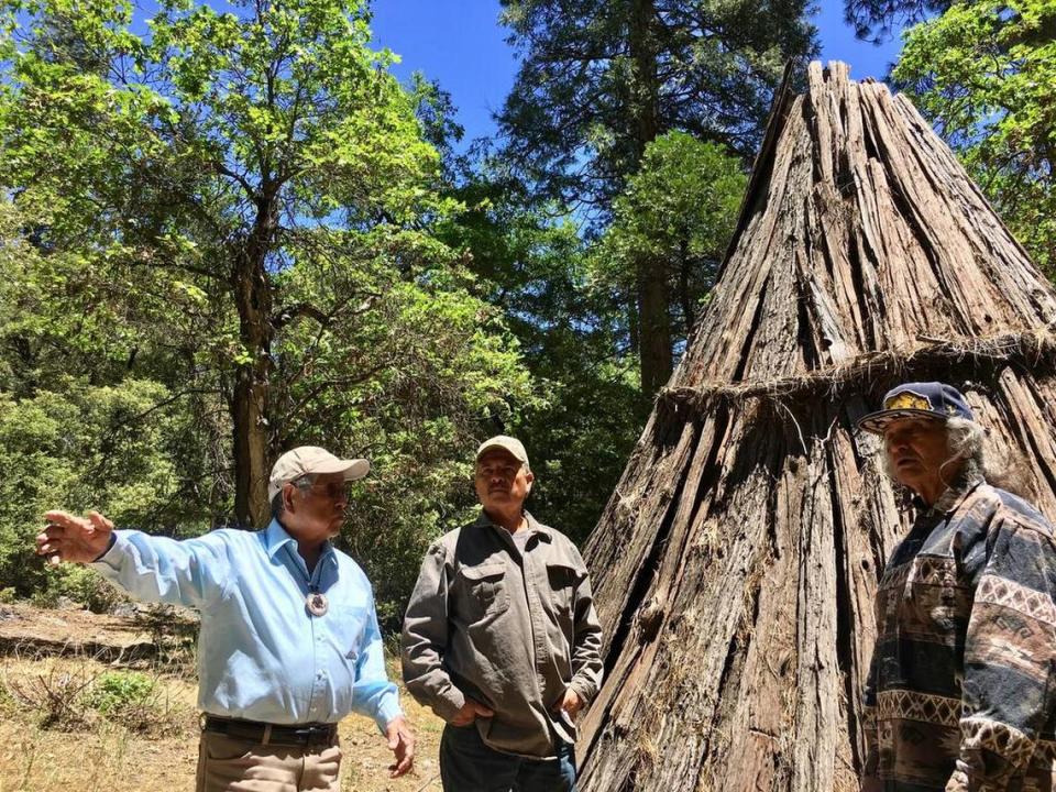
[[[652,0],[631,0],[628,43],[635,64],[630,113],[636,166],[646,146],[660,134],[660,79],[657,75],[657,41]],[[641,361],[641,391],[651,397],[670,378],[671,311],[664,267],[642,256],[638,270],[638,345]]]

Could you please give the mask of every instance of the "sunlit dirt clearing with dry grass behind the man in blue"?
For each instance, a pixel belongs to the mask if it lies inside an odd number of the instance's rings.
[[[194,789],[193,669],[144,659],[144,652],[121,657],[120,648],[148,647],[152,640],[132,618],[0,606],[0,792]],[[78,691],[90,692],[102,674],[129,669],[153,684],[147,728],[136,726],[135,713],[106,717],[78,703]],[[396,671],[391,663],[391,676],[398,680]],[[389,779],[392,754],[373,722],[353,715],[340,725],[344,792],[440,789],[437,751],[443,723],[403,689],[400,701],[417,735],[414,773]],[[48,712],[58,713],[57,723],[45,726]]]

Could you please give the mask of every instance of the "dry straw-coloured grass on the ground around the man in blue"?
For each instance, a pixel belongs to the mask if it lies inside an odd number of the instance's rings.
[[[48,719],[42,707],[46,708],[52,698],[63,698],[63,685],[68,685],[70,694],[78,686],[85,692],[94,680],[112,670],[89,658],[0,660],[0,792],[194,789],[198,749],[194,679],[155,669],[152,705],[164,716],[164,729],[147,729],[144,734],[129,728],[134,726],[132,722],[89,716],[87,707],[75,703],[76,697],[68,701],[68,706],[57,707],[78,713],[61,724],[67,730],[42,725]],[[418,736],[415,773],[391,780],[386,768],[392,754],[373,722],[351,716],[340,726],[345,755],[341,784],[344,792],[440,789],[439,778],[435,777],[443,724],[403,691],[402,702]]]

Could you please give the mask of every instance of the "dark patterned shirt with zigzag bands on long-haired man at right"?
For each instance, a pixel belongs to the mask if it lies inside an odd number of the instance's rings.
[[[866,776],[889,792],[1056,789],[1056,542],[981,477],[950,487],[877,592]]]

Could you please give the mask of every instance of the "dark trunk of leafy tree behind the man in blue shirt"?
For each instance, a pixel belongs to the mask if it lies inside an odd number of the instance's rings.
[[[267,524],[271,472],[268,414],[272,369],[272,293],[265,263],[277,228],[274,199],[258,202],[257,217],[241,255],[232,288],[239,308],[239,336],[248,360],[235,367],[231,417],[234,424],[234,516],[239,525]]]

